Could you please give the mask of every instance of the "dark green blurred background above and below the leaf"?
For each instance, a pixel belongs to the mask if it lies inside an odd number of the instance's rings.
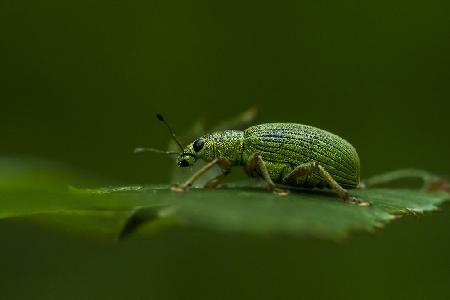
[[[164,183],[175,130],[252,105],[450,174],[448,1],[0,1],[0,154]],[[236,173],[241,173],[236,172]],[[243,176],[240,174],[239,176]],[[448,299],[450,206],[342,244],[172,229],[118,245],[0,222],[3,299]]]

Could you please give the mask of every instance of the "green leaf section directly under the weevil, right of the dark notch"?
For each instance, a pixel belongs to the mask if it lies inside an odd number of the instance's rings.
[[[288,234],[339,240],[355,231],[374,231],[403,214],[435,210],[449,198],[444,192],[370,189],[352,195],[370,207],[343,203],[334,193],[295,192],[280,197],[265,189],[195,189],[177,194],[151,186],[135,193],[162,201],[164,217],[184,226],[258,235]]]

